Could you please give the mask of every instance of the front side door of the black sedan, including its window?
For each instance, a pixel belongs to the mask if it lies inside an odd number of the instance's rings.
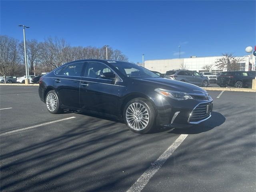
[[[118,116],[118,96],[120,79],[106,79],[100,75],[113,72],[101,62],[86,62],[80,83],[80,107],[104,114]]]

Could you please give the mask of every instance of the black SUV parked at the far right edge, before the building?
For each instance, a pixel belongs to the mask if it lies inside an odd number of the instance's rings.
[[[248,88],[254,78],[255,71],[226,71],[217,76],[217,84],[220,87]]]

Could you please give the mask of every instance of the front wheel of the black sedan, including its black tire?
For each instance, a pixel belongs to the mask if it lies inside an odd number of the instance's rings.
[[[130,106],[132,106],[132,104],[134,105],[134,107],[136,106],[136,109],[140,110],[138,114],[138,111],[134,112],[131,110]],[[146,109],[146,111],[142,112],[144,108]],[[131,112],[134,112],[134,114],[131,115]],[[132,130],[133,132],[139,134],[149,133],[155,127],[156,112],[154,110],[154,106],[144,98],[135,98],[130,100],[124,107],[123,117],[126,126],[128,126],[128,128],[130,128],[130,130]],[[129,119],[130,122],[128,123]]]

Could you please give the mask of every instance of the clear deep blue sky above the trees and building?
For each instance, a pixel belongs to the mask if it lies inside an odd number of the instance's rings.
[[[132,62],[246,55],[256,44],[256,1],[3,1],[0,33],[22,40],[65,38],[72,46],[105,44]]]

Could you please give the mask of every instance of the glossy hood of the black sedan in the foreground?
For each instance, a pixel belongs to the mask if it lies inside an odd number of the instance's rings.
[[[180,91],[185,93],[206,93],[206,90],[190,84],[177,80],[170,80],[166,78],[134,78],[139,81],[150,82],[156,85],[157,88],[163,88],[167,90]]]

